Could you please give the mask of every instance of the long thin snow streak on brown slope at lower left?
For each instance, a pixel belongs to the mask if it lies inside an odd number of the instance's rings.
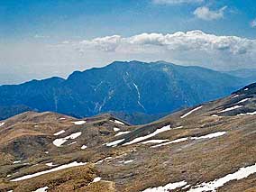
[[[31,175],[25,175],[21,178],[14,178],[11,181],[20,181],[20,180],[24,180],[24,179],[28,179],[28,178],[35,178],[35,177],[38,177],[38,176],[41,176],[41,175],[44,175],[44,174],[47,174],[47,173],[55,172],[55,171],[58,171],[58,170],[61,170],[61,169],[68,169],[68,168],[78,167],[78,166],[82,166],[82,165],[86,165],[86,164],[87,164],[87,162],[74,161],[74,162],[70,162],[69,164],[61,165],[57,168],[43,170],[41,172],[33,173]]]

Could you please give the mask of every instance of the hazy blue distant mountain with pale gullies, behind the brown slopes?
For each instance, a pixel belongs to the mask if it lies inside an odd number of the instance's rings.
[[[112,111],[139,113],[142,118],[141,114],[165,114],[227,96],[247,83],[247,78],[200,67],[164,61],[115,61],[104,68],[75,71],[68,79],[48,78],[1,86],[0,114],[1,107],[21,105],[76,117]]]

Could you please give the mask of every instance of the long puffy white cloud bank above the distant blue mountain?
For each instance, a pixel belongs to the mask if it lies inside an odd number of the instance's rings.
[[[81,41],[79,49],[96,49],[114,52],[147,52],[150,50],[204,50],[219,51],[233,55],[245,54],[256,49],[256,41],[236,36],[217,36],[201,31],[175,33],[142,33],[131,37],[106,36]]]

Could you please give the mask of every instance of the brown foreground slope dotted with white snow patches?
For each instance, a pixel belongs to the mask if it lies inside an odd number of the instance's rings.
[[[139,126],[20,114],[1,122],[0,190],[255,191],[255,114],[256,84]]]

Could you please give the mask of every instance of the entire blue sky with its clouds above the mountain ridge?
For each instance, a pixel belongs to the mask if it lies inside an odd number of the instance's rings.
[[[0,0],[0,85],[134,59],[255,69],[255,0]]]

